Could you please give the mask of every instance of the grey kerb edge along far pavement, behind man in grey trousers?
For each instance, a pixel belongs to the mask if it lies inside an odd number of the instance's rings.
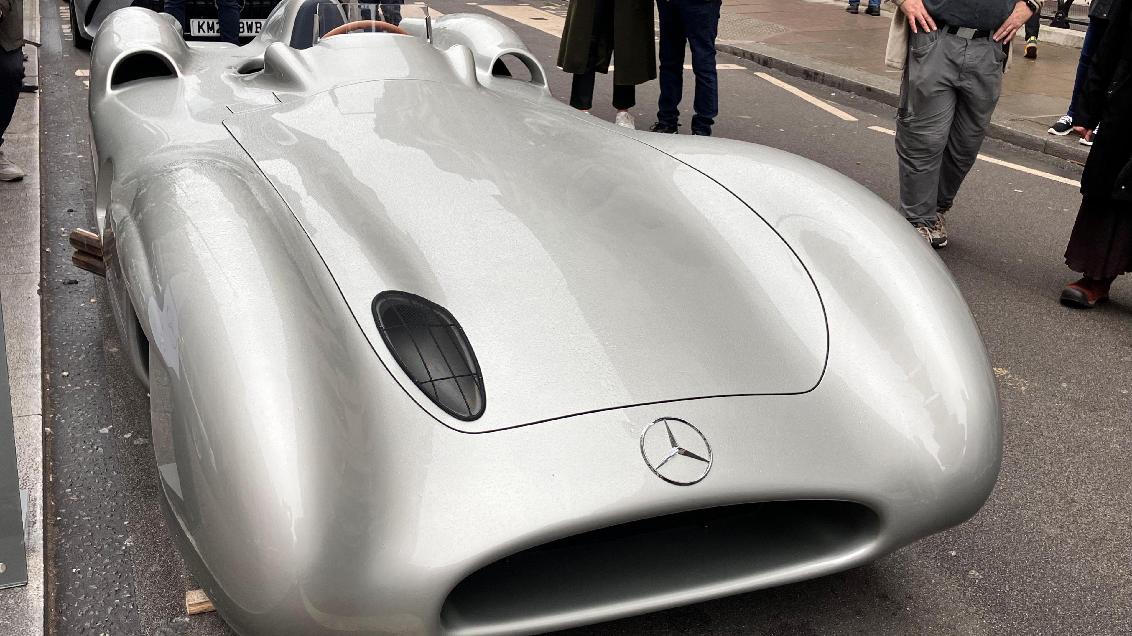
[[[900,83],[889,77],[784,51],[761,42],[717,41],[715,50],[794,77],[856,93],[893,108],[900,103]],[[1089,151],[1084,146],[1066,144],[1061,138],[1045,132],[1035,132],[1026,127],[1024,121],[1020,115],[996,110],[990,119],[987,136],[1078,163],[1084,163],[1089,157]]]

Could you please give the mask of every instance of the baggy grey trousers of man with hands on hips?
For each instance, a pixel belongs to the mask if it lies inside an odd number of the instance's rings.
[[[989,37],[911,34],[897,111],[900,214],[932,225],[975,164],[1002,91],[1006,51]]]

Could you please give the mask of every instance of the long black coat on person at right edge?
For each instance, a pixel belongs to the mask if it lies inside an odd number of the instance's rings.
[[[1081,194],[1132,201],[1132,0],[1117,0],[1089,66],[1075,126],[1100,123],[1081,175]]]

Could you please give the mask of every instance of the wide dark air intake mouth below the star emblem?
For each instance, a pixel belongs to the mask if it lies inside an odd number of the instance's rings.
[[[546,543],[472,573],[440,610],[445,633],[534,634],[808,578],[876,541],[851,501],[743,504]],[[800,574],[799,574],[800,573]],[[808,574],[807,574],[808,573]],[[805,575],[805,576],[803,576]]]

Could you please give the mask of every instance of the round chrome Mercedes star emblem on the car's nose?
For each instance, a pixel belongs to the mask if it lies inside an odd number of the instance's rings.
[[[677,485],[692,485],[711,470],[707,438],[676,418],[653,420],[641,431],[641,455],[657,476]]]

